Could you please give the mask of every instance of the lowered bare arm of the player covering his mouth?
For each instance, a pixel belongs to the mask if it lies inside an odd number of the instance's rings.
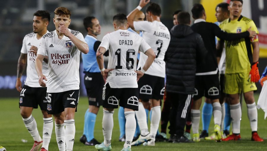
[[[42,54],[37,54],[36,59],[35,59],[35,69],[39,77],[39,84],[40,86],[43,86],[43,87],[46,86],[44,80],[47,81],[47,78],[45,77],[45,75],[43,75],[43,72],[42,72],[42,62],[44,58],[45,56],[43,56]]]

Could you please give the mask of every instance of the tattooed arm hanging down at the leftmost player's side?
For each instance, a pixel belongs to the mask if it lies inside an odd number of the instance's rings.
[[[16,81],[16,89],[20,92],[22,90],[22,83],[20,78],[23,74],[23,71],[26,67],[27,62],[27,54],[20,53],[20,57],[18,60],[18,68],[17,68],[17,81]]]

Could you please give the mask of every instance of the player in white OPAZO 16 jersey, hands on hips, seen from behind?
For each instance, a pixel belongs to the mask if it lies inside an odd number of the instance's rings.
[[[131,150],[131,142],[136,129],[135,110],[138,110],[138,84],[155,59],[155,53],[144,39],[128,31],[129,23],[124,14],[113,17],[114,32],[107,34],[97,50],[96,57],[101,74],[106,81],[103,89],[103,134],[104,142],[96,145],[98,150],[111,150],[114,108],[124,107],[125,144],[122,151]],[[103,54],[109,49],[109,63],[104,68]],[[148,58],[141,71],[136,70],[137,53],[140,49]],[[142,78],[141,78],[142,79]]]

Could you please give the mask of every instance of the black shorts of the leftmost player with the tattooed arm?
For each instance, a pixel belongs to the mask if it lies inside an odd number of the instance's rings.
[[[33,107],[37,109],[39,105],[41,110],[46,110],[46,90],[47,87],[30,87],[24,85],[20,92],[19,106]]]

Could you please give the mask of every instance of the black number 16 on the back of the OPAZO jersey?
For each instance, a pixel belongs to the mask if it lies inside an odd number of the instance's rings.
[[[126,68],[128,70],[132,70],[134,68],[134,58],[131,58],[131,54],[133,56],[135,56],[135,51],[134,49],[128,49],[126,52]],[[122,50],[121,49],[117,49],[117,51],[115,52],[115,55],[117,56],[117,65],[115,67],[115,69],[123,69],[122,66]]]

